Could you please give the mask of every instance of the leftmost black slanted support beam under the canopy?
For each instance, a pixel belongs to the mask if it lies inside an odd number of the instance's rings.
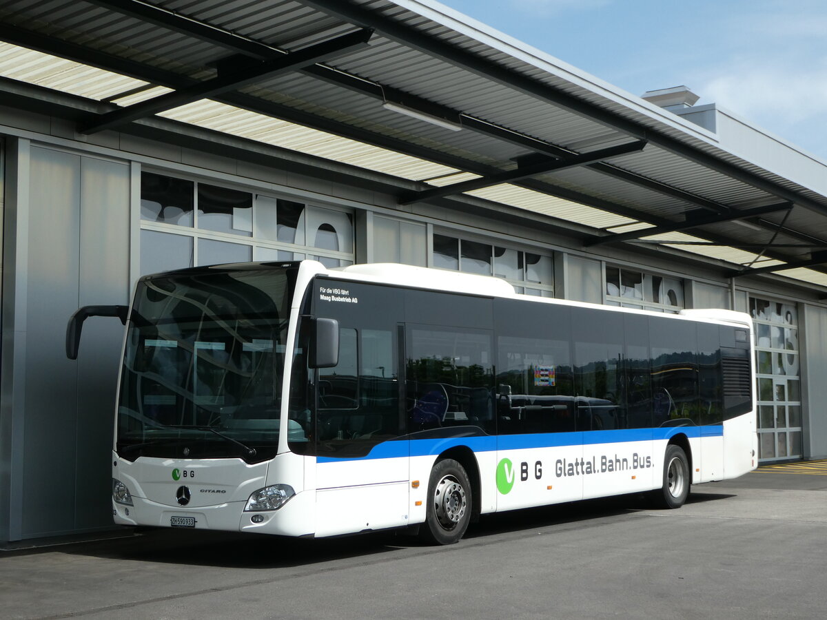
[[[81,127],[79,132],[92,134],[105,129],[112,129],[112,127],[136,121],[138,118],[148,117],[158,112],[170,110],[173,107],[182,106],[184,103],[213,98],[221,93],[238,90],[247,84],[261,81],[261,79],[294,71],[308,64],[330,60],[367,45],[367,41],[370,40],[372,34],[373,31],[370,30],[351,32],[317,45],[310,45],[302,50],[290,52],[275,60],[247,64],[246,67],[237,69],[232,73],[218,74],[213,79],[204,80],[129,107],[107,112],[94,118],[88,125]]]

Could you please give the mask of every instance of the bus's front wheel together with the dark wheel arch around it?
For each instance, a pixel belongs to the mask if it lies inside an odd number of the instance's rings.
[[[452,448],[434,461],[428,476],[423,541],[451,545],[461,540],[479,505],[479,470],[468,448]]]

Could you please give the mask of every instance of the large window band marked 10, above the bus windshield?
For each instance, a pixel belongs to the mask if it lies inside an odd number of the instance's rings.
[[[353,263],[350,213],[141,174],[141,274],[250,260]]]

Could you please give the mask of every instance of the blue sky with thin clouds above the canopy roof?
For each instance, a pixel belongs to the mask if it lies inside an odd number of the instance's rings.
[[[441,0],[635,95],[686,85],[827,160],[827,0]]]

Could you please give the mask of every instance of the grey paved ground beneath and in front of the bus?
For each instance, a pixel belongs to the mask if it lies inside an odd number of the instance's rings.
[[[795,471],[795,470],[792,470]],[[2,618],[825,618],[827,464],[484,518],[420,546],[148,530],[0,551]]]

